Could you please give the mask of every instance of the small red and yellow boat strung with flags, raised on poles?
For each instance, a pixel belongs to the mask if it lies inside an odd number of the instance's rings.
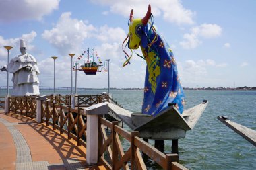
[[[81,60],[84,54],[87,54],[87,60]],[[98,59],[98,63],[96,60],[94,60],[95,56]],[[88,48],[88,50],[84,50],[84,52],[77,59],[79,61],[75,62],[73,70],[84,71],[86,75],[96,75],[97,72],[107,71],[106,63],[103,65],[100,56],[98,56],[98,53],[95,51],[95,48],[92,48],[91,54],[90,48]],[[77,65],[79,69],[77,69]]]

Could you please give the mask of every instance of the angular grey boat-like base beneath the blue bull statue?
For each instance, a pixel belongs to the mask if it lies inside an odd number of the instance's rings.
[[[207,105],[208,101],[204,100],[201,104],[183,111],[183,114],[180,114],[174,105],[170,105],[157,116],[150,116],[132,113],[118,105],[108,103],[110,111],[129,128],[139,131],[141,138],[154,140],[185,138],[187,130],[193,130]]]

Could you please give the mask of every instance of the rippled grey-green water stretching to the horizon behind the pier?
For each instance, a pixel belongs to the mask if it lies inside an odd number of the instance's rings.
[[[100,94],[103,91],[106,90],[80,90],[78,93]],[[5,93],[0,92],[0,95]],[[50,93],[53,91],[41,91],[41,95]],[[66,95],[70,91],[56,93]],[[112,90],[110,93],[127,110],[141,111],[143,91]],[[195,128],[179,140],[180,163],[189,169],[256,169],[256,147],[217,119],[217,116],[226,115],[230,120],[256,130],[256,91],[185,91],[185,95],[185,109],[203,99],[209,104]],[[153,144],[152,140],[150,144]],[[165,141],[165,151],[171,151],[170,140]],[[148,165],[149,169],[158,169],[151,161]]]

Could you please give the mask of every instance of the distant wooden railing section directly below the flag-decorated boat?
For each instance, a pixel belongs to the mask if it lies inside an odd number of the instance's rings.
[[[108,101],[108,98],[108,95],[77,95],[75,96],[75,107],[89,107],[103,101]]]

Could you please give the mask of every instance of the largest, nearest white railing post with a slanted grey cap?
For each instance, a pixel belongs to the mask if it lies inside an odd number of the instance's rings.
[[[84,108],[82,114],[87,116],[86,162],[95,165],[98,163],[98,115],[108,114],[108,104],[99,103]]]

